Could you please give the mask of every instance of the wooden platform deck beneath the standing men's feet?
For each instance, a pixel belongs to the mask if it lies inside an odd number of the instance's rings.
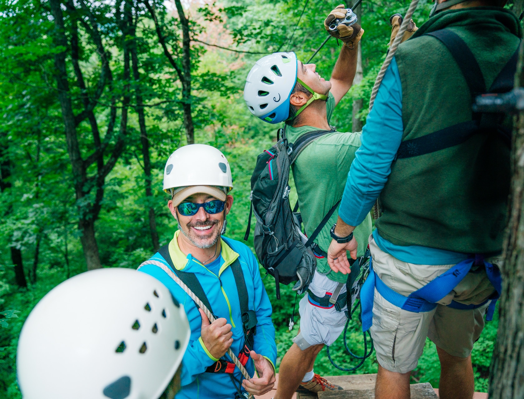
[[[343,391],[325,391],[318,395],[294,394],[293,399],[375,399],[375,380],[377,374],[353,374],[326,376],[326,379],[344,388]],[[271,399],[275,396],[277,382],[271,392],[255,396],[257,399]],[[439,390],[430,383],[411,384],[411,399],[438,399]],[[487,393],[475,392],[473,399],[487,399]]]

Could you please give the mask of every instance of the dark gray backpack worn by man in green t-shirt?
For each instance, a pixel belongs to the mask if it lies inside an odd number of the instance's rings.
[[[302,150],[320,136],[334,132],[315,130],[300,136],[295,143],[288,143],[283,129],[278,129],[277,143],[257,158],[251,176],[251,207],[244,240],[249,237],[251,217],[255,214],[255,252],[267,273],[275,278],[277,298],[280,283],[297,282],[293,291],[302,294],[313,279],[316,258],[313,240],[328,222],[340,201],[322,219],[311,237],[302,234],[302,219],[298,210],[292,212],[289,204],[289,169]]]

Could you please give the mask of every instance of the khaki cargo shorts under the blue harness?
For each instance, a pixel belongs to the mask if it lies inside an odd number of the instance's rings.
[[[428,265],[403,262],[381,250],[369,237],[373,270],[399,294],[408,296],[452,268],[454,264]],[[500,258],[488,259],[500,265]],[[405,311],[386,301],[375,289],[373,305],[373,338],[378,363],[386,370],[407,373],[417,367],[426,337],[452,356],[467,358],[484,328],[484,315],[489,302],[471,310],[445,306],[452,300],[479,304],[495,292],[484,268],[472,268],[455,289],[431,312]]]

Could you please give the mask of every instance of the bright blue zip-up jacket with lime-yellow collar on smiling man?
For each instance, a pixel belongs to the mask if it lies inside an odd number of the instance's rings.
[[[231,324],[233,331],[231,350],[237,356],[243,348],[244,331],[235,278],[233,271],[228,266],[238,258],[246,281],[249,309],[256,312],[258,320],[253,350],[268,359],[275,368],[277,346],[275,343],[275,327],[271,322],[272,308],[260,278],[258,262],[253,252],[242,242],[222,237],[221,266],[219,274],[216,275],[193,258],[191,254],[185,256],[178,246],[177,237],[179,233],[180,230],[177,230],[169,243],[171,260],[178,270],[195,273],[213,308],[213,313],[216,317],[224,317],[227,323]],[[151,259],[168,265],[158,252]],[[232,399],[236,390],[230,376],[226,373],[208,373],[205,371],[217,359],[206,349],[200,338],[202,317],[193,300],[159,267],[149,264],[141,267],[140,271],[154,276],[168,287],[177,301],[184,306],[185,313],[188,315],[191,338],[182,360],[182,389],[175,396],[176,399]],[[225,357],[231,361],[227,354]],[[245,367],[249,375],[255,374],[255,367],[251,358],[249,358]],[[238,368],[235,368],[233,376],[237,380],[242,379],[242,374]]]

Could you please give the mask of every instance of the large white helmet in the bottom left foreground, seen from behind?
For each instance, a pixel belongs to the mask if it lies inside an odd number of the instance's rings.
[[[157,399],[191,330],[169,290],[108,268],[64,281],[36,305],[18,340],[24,399]]]

